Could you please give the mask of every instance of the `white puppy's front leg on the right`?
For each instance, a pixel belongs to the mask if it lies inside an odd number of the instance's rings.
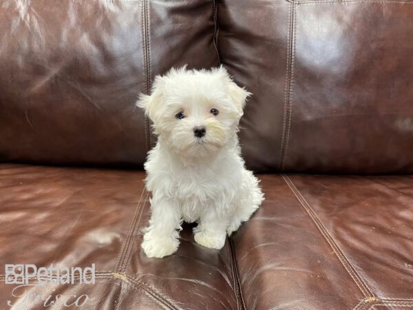
[[[222,249],[226,239],[226,227],[228,220],[224,220],[222,214],[218,214],[215,208],[207,208],[198,226],[193,229],[195,242],[209,249]]]

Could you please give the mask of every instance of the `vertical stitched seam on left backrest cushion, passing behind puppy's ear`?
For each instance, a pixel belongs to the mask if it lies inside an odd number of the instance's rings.
[[[149,14],[148,14],[149,3],[147,0],[142,1],[142,49],[143,49],[143,61],[145,66],[145,87],[146,93],[150,94],[151,92],[151,70],[149,68],[151,59],[149,52]],[[145,116],[145,138],[147,143],[147,151],[151,149],[151,125],[149,118]]]

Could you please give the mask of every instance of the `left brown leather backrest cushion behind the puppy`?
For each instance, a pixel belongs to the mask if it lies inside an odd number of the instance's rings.
[[[209,0],[0,4],[0,161],[141,166],[156,74],[217,66]]]

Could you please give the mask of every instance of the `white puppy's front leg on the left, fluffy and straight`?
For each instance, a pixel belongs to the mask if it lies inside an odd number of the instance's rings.
[[[176,252],[179,245],[180,214],[178,204],[159,194],[151,199],[151,219],[143,236],[142,249],[148,257],[162,258]]]

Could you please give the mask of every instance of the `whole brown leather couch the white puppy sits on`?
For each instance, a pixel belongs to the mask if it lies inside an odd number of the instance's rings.
[[[266,200],[221,251],[185,226],[149,259],[135,102],[184,63],[253,92]],[[0,160],[0,309],[412,309],[413,1],[2,0]],[[92,263],[94,285],[6,283]]]

